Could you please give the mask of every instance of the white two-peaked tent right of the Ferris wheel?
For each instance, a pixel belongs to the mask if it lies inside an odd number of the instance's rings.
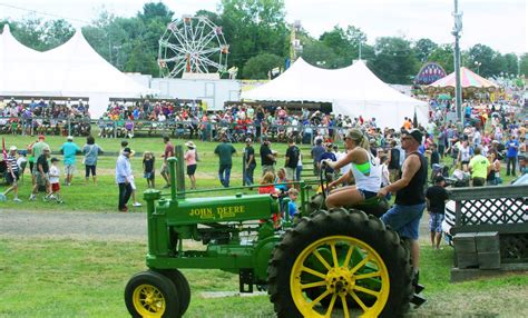
[[[332,102],[333,112],[350,117],[375,117],[380,127],[400,128],[414,111],[419,122],[428,120],[428,103],[404,96],[381,81],[364,61],[329,70],[299,58],[276,79],[242,93],[243,99],[270,101]]]

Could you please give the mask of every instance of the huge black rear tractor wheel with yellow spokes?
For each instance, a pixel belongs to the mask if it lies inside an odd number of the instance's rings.
[[[349,245],[345,257],[346,249],[335,248],[343,244]],[[350,261],[351,250],[361,251],[362,260]],[[349,311],[349,306],[365,317],[399,317],[409,309],[413,292],[409,257],[399,236],[380,219],[359,210],[321,211],[287,230],[273,250],[270,299],[277,317],[324,317],[333,309]],[[314,266],[309,259],[319,259],[319,269],[310,268]],[[375,279],[377,287],[365,288],[369,279]],[[322,294],[313,296],[312,289]]]

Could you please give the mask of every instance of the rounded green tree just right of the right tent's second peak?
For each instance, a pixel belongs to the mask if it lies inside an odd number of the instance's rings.
[[[411,83],[418,73],[419,61],[411,42],[402,38],[378,38],[372,71],[388,83]]]

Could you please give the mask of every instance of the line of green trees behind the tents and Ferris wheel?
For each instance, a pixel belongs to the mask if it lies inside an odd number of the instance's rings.
[[[158,40],[170,21],[188,12],[177,13],[163,2],[145,3],[143,10],[130,18],[101,11],[82,28],[82,33],[90,46],[119,70],[157,77]],[[228,68],[238,68],[238,78],[265,79],[271,69],[284,69],[292,49],[292,26],[285,21],[283,0],[221,0],[216,12],[198,10],[195,14],[222,26],[229,44]],[[0,20],[0,27],[8,22],[21,43],[39,51],[66,42],[75,32],[65,19],[43,20],[30,16],[18,21]],[[327,69],[343,68],[358,59],[361,50],[361,58],[368,61],[370,69],[389,83],[411,83],[421,66],[430,61],[438,62],[447,73],[453,71],[451,43],[382,37],[370,46],[368,36],[352,24],[335,26],[319,38],[301,28],[295,37],[302,44],[297,56],[309,63]],[[479,43],[462,51],[462,66],[483,77],[526,77],[528,53],[502,54]]]

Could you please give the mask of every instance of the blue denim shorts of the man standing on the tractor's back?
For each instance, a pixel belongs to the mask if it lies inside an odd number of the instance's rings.
[[[395,230],[401,237],[418,239],[420,219],[426,209],[426,203],[414,206],[394,205],[381,216],[381,220]]]

